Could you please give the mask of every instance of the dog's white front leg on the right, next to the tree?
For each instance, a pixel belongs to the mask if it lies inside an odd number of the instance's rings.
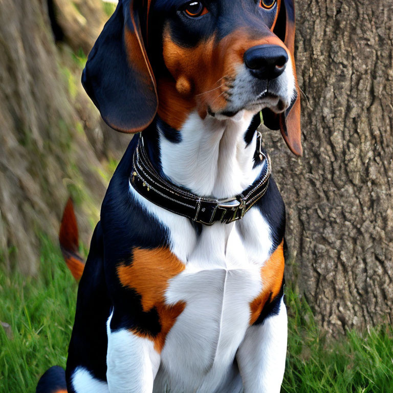
[[[277,315],[250,326],[236,360],[244,393],[279,393],[287,354],[288,319],[283,300]]]

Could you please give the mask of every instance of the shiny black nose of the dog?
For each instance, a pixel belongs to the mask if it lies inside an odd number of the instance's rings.
[[[258,45],[246,51],[244,62],[256,78],[274,79],[284,72],[288,54],[278,45]]]

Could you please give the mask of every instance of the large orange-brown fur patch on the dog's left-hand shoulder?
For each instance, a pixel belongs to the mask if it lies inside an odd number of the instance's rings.
[[[156,336],[141,333],[133,329],[133,333],[154,341],[157,352],[161,352],[165,338],[174,322],[183,312],[186,303],[173,305],[165,303],[165,291],[169,280],[182,271],[185,265],[168,248],[160,247],[152,250],[134,248],[131,265],[121,264],[117,274],[123,287],[134,289],[141,296],[144,312],[156,308],[159,315],[161,331]]]

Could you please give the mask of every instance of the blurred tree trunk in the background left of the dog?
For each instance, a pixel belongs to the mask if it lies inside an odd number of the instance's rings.
[[[80,73],[70,48],[55,46],[46,2],[0,0],[0,262],[9,269],[37,271],[39,235],[56,241],[69,193],[89,244],[106,158],[124,149],[84,94]]]

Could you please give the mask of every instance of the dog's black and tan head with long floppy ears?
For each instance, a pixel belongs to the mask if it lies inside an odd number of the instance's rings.
[[[145,129],[157,111],[263,111],[301,155],[294,0],[120,0],[91,51],[84,88],[114,129]]]

